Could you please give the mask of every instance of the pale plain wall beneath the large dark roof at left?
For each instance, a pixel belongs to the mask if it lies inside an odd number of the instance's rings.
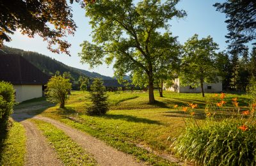
[[[42,97],[42,85],[14,85],[16,102]]]

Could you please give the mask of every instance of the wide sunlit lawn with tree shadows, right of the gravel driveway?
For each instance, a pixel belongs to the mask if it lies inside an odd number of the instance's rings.
[[[159,98],[156,91],[157,103],[150,105],[147,92],[110,92],[108,93],[110,105],[108,114],[87,116],[84,112],[86,105],[90,104],[88,95],[87,92],[73,91],[66,109],[59,109],[56,106],[39,112],[104,140],[107,144],[132,154],[140,160],[156,165],[168,164],[156,154],[172,153],[170,147],[172,140],[184,132],[184,119],[189,120],[188,115],[181,110],[173,109],[173,106],[198,104],[195,118],[199,124],[202,124],[205,102],[214,96],[214,94],[206,94],[206,97],[202,98],[201,94],[164,91],[164,98]],[[238,98],[241,109],[246,109],[249,102],[246,94],[227,94],[227,107],[232,107],[231,99],[234,97]],[[42,101],[39,100],[39,102]],[[17,107],[26,107],[35,103],[21,103]],[[154,151],[155,155],[148,151]]]

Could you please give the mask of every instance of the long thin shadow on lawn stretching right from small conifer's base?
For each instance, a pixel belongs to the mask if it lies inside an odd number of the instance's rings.
[[[136,116],[122,115],[122,114],[118,114],[118,115],[116,115],[116,114],[115,115],[106,114],[102,117],[105,117],[106,119],[122,119],[122,120],[125,120],[125,121],[135,122],[135,123],[147,123],[147,124],[163,125],[159,121],[154,121],[154,120],[150,120],[150,119],[146,119],[146,118],[142,118],[142,117],[136,117]]]

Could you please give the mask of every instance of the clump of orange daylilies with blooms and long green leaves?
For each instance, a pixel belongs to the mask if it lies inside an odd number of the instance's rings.
[[[224,93],[215,94],[212,102],[207,102],[203,125],[193,116],[195,121],[186,121],[186,132],[172,145],[177,155],[199,165],[256,165],[256,103],[240,112],[237,98],[232,98],[234,107],[227,109],[225,97]],[[182,107],[184,112],[191,109],[193,104]]]

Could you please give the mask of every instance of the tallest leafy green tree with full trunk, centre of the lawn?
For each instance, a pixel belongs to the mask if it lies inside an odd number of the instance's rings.
[[[168,31],[168,21],[182,18],[178,0],[99,0],[86,5],[86,15],[93,28],[93,43],[84,41],[81,61],[90,66],[113,61],[117,77],[142,70],[148,79],[149,103],[154,103],[155,61],[170,52],[177,43]],[[161,32],[160,32],[161,31]]]

